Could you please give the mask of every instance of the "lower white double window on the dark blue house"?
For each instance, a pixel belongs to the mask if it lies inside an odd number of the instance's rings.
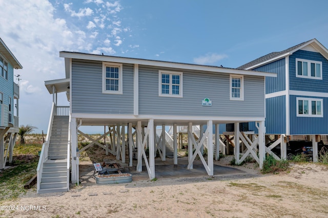
[[[322,99],[296,98],[297,116],[323,117]]]

